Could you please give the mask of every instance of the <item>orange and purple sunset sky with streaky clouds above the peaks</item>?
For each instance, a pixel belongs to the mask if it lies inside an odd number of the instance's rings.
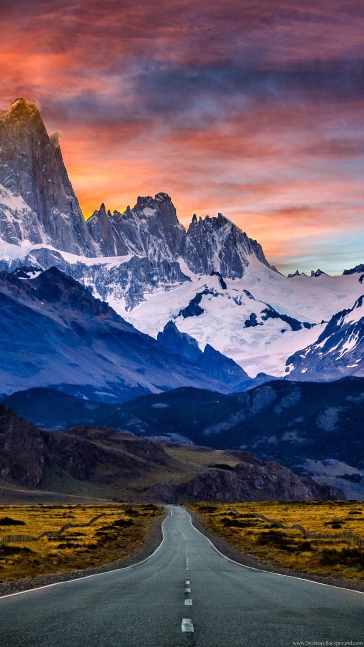
[[[36,102],[85,217],[169,193],[286,273],[364,262],[362,0],[1,0],[0,109]]]

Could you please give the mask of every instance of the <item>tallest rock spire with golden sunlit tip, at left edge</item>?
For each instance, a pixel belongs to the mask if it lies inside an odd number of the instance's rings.
[[[38,108],[25,98],[0,114],[0,185],[3,240],[93,255],[58,137],[49,137]]]

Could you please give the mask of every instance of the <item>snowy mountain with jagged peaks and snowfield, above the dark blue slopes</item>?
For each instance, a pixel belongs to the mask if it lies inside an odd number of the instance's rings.
[[[185,230],[166,193],[124,214],[102,204],[86,222],[58,140],[25,99],[0,115],[0,269],[22,266],[57,267],[154,338],[171,321],[250,377],[287,375],[287,358],[364,293],[359,270],[282,276],[222,214]]]

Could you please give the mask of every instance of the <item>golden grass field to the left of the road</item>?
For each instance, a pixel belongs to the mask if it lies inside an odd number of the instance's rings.
[[[58,531],[65,523],[82,525],[102,512],[105,516],[93,525],[70,528],[58,537],[0,544],[0,582],[86,569],[126,558],[141,547],[152,521],[161,514],[152,504],[1,505],[0,538],[39,536]],[[2,523],[6,517],[24,525]]]

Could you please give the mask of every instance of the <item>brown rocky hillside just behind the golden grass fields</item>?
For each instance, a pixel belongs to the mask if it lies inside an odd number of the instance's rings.
[[[59,496],[126,501],[252,501],[343,498],[249,452],[216,452],[137,438],[105,427],[40,430],[0,405],[0,493],[51,490]],[[19,451],[19,448],[21,450]]]

